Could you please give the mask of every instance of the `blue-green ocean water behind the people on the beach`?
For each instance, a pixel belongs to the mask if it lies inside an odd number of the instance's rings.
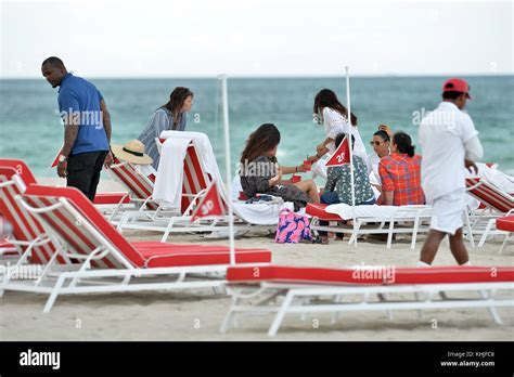
[[[485,161],[514,174],[514,76],[464,77],[473,101],[467,112],[480,132]],[[435,108],[444,77],[356,77],[351,109],[368,141],[380,123],[402,130],[417,140],[416,117]],[[217,79],[91,79],[107,103],[113,121],[113,144],[134,139],[152,112],[167,102],[177,86],[195,96],[187,130],[209,135],[220,170],[224,171],[221,93]],[[312,121],[316,93],[330,88],[346,105],[344,78],[233,78],[228,81],[230,139],[235,165],[248,134],[264,122],[275,123],[282,134],[279,161],[299,165],[324,140],[323,128]],[[53,176],[48,166],[63,140],[56,89],[44,79],[0,80],[0,156],[23,158],[39,176]],[[422,152],[417,150],[417,152]],[[223,176],[224,177],[224,176]]]

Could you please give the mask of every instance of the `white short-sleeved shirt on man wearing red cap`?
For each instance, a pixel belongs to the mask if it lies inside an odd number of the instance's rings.
[[[422,120],[421,184],[427,203],[465,187],[464,143],[477,134],[470,115],[451,102],[441,102]]]

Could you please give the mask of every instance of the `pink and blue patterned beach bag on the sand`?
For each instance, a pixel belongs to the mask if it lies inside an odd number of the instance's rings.
[[[303,240],[312,240],[309,219],[288,208],[282,209],[274,242],[277,244],[298,244]]]

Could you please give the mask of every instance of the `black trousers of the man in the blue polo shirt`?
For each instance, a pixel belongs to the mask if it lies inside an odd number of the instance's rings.
[[[80,153],[68,157],[66,185],[76,187],[90,197],[91,179],[97,164],[97,152]]]

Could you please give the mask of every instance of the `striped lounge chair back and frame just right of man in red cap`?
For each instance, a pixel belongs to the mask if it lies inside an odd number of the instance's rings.
[[[514,195],[503,192],[480,177],[466,178],[466,191],[484,207],[470,217],[471,236],[481,234],[478,243],[478,247],[481,247],[487,237],[502,234],[494,230],[496,221],[500,217],[514,213]]]

